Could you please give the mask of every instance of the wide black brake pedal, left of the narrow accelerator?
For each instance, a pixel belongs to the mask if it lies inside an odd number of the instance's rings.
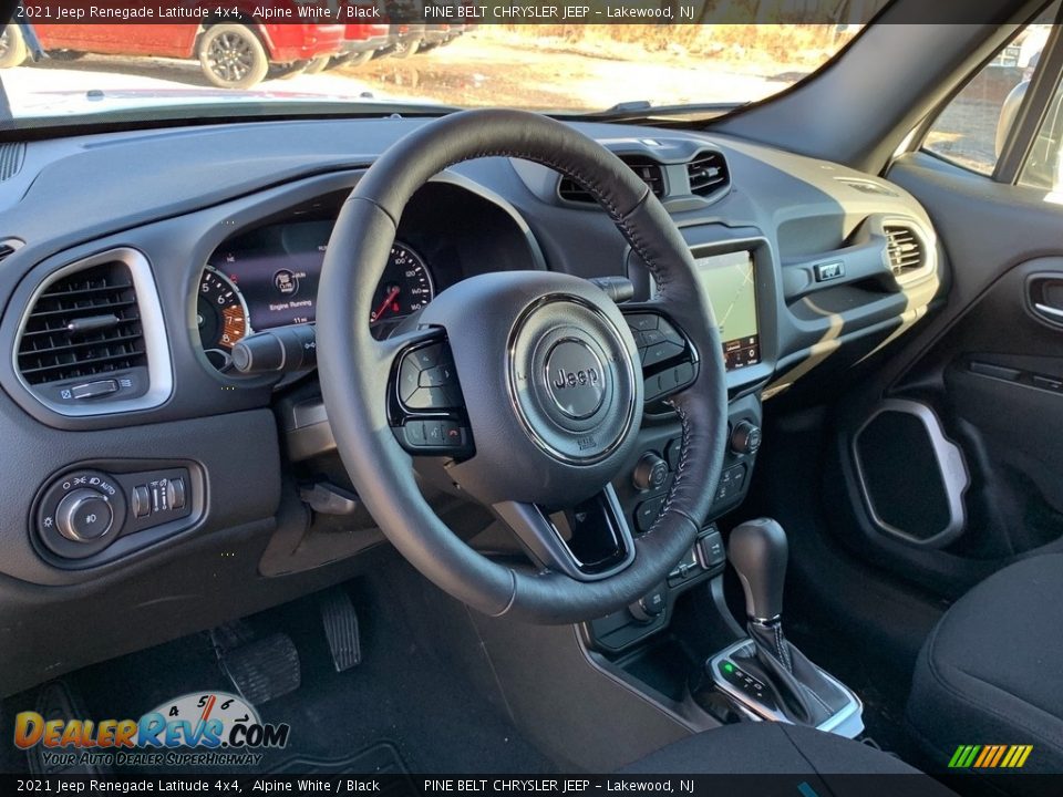
[[[299,651],[286,633],[275,633],[245,641],[244,629],[233,625],[214,629],[210,639],[218,654],[218,664],[237,693],[254,706],[295,692],[302,683]],[[233,644],[236,642],[237,644]]]

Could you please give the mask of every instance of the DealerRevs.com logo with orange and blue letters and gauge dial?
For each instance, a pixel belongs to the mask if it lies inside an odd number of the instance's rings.
[[[255,766],[266,748],[288,744],[287,724],[262,723],[254,706],[226,692],[167,701],[140,720],[14,717],[14,744],[44,748],[45,765],[135,764]]]

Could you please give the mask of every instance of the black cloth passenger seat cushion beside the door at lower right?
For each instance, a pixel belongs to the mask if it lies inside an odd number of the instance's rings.
[[[946,612],[908,722],[942,767],[959,745],[1033,745],[1023,773],[1063,773],[1063,555],[1011,565]]]

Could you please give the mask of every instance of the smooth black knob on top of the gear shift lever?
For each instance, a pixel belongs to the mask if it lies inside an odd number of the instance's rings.
[[[771,518],[747,520],[731,532],[727,559],[745,591],[751,620],[774,620],[783,613],[786,582],[786,532]]]

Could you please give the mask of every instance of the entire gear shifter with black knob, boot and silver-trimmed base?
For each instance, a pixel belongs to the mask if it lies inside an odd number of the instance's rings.
[[[710,674],[719,689],[764,718],[834,729],[855,713],[855,723],[850,720],[844,731],[856,727],[855,736],[863,729],[859,700],[783,634],[787,556],[786,532],[770,518],[731,532],[727,559],[745,592],[750,640],[714,656]]]

